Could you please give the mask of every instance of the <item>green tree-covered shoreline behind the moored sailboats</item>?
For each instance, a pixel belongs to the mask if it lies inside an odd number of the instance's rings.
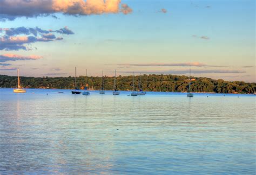
[[[144,91],[153,92],[187,92],[189,85],[189,77],[182,75],[142,75],[141,87]],[[51,89],[75,89],[75,81],[73,77],[25,77],[21,76],[21,84],[25,88],[51,88]],[[222,79],[213,80],[210,78],[192,77],[192,92],[208,92],[208,93],[241,93],[253,94],[256,90],[256,83],[247,83],[244,81],[224,81]],[[118,90],[132,90],[133,76],[118,76]],[[113,89],[114,77],[104,76],[104,89]],[[139,76],[134,77],[135,86],[138,89]],[[89,88],[99,90],[102,87],[102,77],[79,76],[77,78],[77,87],[84,89],[86,83]],[[0,75],[1,88],[17,87],[17,76]]]

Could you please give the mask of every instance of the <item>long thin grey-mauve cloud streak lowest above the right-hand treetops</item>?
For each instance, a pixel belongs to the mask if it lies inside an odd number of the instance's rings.
[[[136,74],[188,74],[188,69],[179,69],[179,70],[170,70],[170,71],[119,71],[120,73],[136,73]],[[227,69],[197,69],[192,70],[193,74],[206,74],[206,73],[246,73],[246,71],[238,71],[238,70],[227,70]]]

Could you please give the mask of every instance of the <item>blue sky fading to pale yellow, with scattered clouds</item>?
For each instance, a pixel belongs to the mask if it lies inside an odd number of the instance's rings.
[[[2,0],[0,74],[256,82],[254,0]]]

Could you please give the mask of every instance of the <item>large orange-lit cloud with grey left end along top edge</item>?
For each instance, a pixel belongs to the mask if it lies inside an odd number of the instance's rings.
[[[14,20],[17,17],[50,16],[53,13],[66,15],[100,15],[103,13],[124,14],[132,12],[121,0],[1,0],[0,20]]]

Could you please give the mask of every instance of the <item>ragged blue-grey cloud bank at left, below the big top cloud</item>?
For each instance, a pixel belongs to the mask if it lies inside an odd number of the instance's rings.
[[[57,31],[43,30],[39,27],[17,27],[10,29],[0,28],[0,30],[4,31],[3,34],[0,34],[0,50],[6,51],[31,50],[31,48],[25,44],[63,39],[63,37],[56,37],[53,33],[74,34],[73,31],[68,29],[68,27],[64,27],[63,29],[59,29]]]

